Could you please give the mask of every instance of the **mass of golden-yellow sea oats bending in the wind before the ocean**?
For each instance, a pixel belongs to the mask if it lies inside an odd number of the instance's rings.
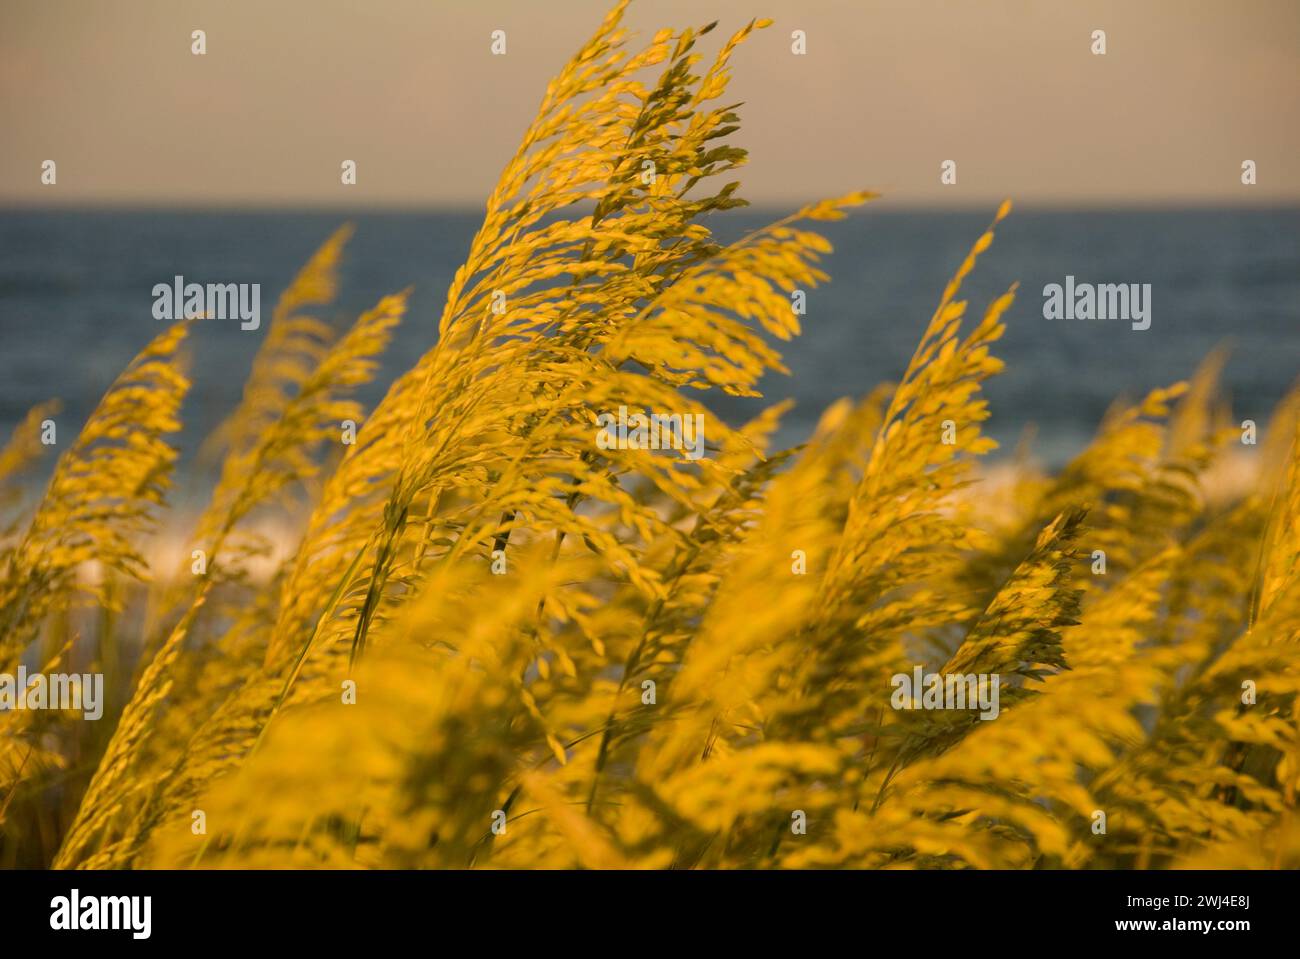
[[[970,314],[962,286],[1004,204],[897,383],[794,450],[786,404],[728,426],[711,395],[785,372],[790,295],[827,279],[807,221],[872,194],[716,239],[744,204],[732,62],[768,21],[706,56],[715,25],[633,47],[624,9],[547,86],[373,409],[352,394],[407,295],[311,316],[347,229],[299,274],[179,570],[140,539],[185,325],[25,513],[51,408],[0,452],[4,668],[88,663],[118,697],[94,730],[0,713],[0,863],[1300,865],[1300,391],[1244,495],[1210,490],[1218,353],[989,492],[1015,288]],[[702,455],[597,442],[614,411],[701,416]],[[998,708],[900,708],[926,673],[997,677]]]

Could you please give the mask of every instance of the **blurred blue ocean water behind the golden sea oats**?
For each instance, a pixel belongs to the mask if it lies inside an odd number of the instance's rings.
[[[729,213],[723,238],[784,211]],[[948,277],[987,225],[968,212],[875,212],[824,225],[832,281],[809,294],[803,335],[780,344],[790,377],[763,383],[766,399],[719,396],[740,422],[766,402],[793,398],[779,437],[803,439],[840,396],[901,376]],[[113,377],[157,333],[152,287],[261,283],[264,325],[200,324],[192,337],[194,391],[182,446],[198,442],[239,398],[283,286],[341,222],[356,224],[343,287],[326,318],[347,322],[381,295],[413,285],[411,312],[385,357],[382,383],[437,337],[447,286],[480,216],[471,213],[0,212],[0,430],[35,403],[60,398],[77,429]],[[988,429],[1004,448],[1031,424],[1040,459],[1058,464],[1092,435],[1106,407],[1192,373],[1214,346],[1232,347],[1226,383],[1239,418],[1265,422],[1300,373],[1300,209],[1022,212],[966,285],[971,311],[1019,281],[997,352],[1006,372],[988,386]],[[1076,282],[1150,283],[1152,324],[1045,320],[1043,287]],[[364,394],[376,399],[376,386]]]

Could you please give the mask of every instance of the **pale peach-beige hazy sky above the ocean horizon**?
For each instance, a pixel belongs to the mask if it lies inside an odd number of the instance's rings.
[[[606,8],[0,0],[0,205],[481,207]],[[720,19],[711,53],[755,16],[776,23],[731,94],[757,203],[1300,203],[1297,0],[634,0],[627,22]]]

